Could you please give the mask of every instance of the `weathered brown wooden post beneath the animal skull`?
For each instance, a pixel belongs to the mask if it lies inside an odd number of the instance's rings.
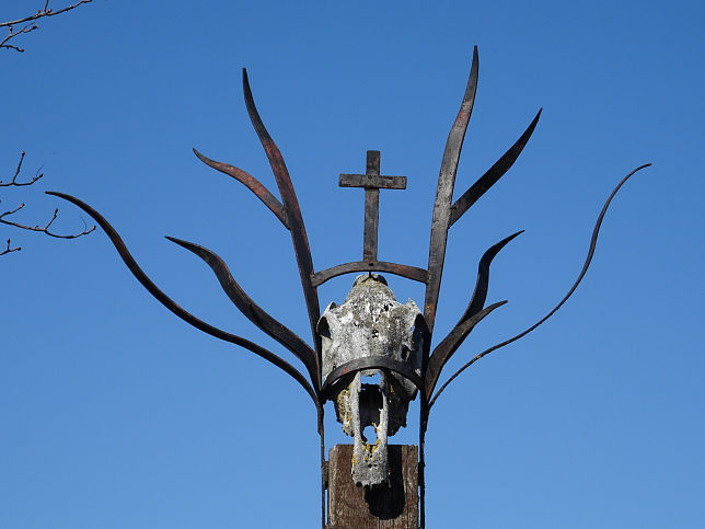
[[[388,449],[389,486],[373,488],[352,482],[352,445],[331,449],[327,529],[418,529],[418,447]]]

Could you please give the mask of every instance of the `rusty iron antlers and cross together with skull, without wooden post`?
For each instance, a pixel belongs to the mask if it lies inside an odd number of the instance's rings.
[[[624,183],[637,171],[650,165],[644,164],[636,168],[628,173],[614,188],[603,205],[603,208],[598,216],[592,238],[590,240],[588,255],[579,273],[575,284],[570,287],[565,297],[541,320],[533,325],[529,326],[525,331],[517,334],[516,336],[505,340],[504,342],[494,345],[486,350],[479,353],[456,370],[438,390],[437,384],[443,367],[452,355],[462,345],[464,340],[486,315],[492,311],[506,303],[507,301],[499,301],[489,306],[485,304],[487,299],[487,290],[489,284],[489,266],[492,261],[498,252],[521,233],[513,233],[506,239],[499,241],[494,246],[489,248],[482,258],[479,260],[477,279],[475,289],[472,294],[471,300],[464,313],[459,319],[455,326],[451,332],[444,336],[438,345],[430,352],[430,343],[434,333],[434,323],[436,319],[436,309],[438,306],[438,296],[441,285],[441,276],[443,272],[443,262],[446,256],[446,246],[448,241],[448,231],[450,228],[463,216],[467,209],[475,204],[515,163],[522,149],[529,141],[541,115],[541,111],[536,114],[528,128],[519,137],[517,142],[505,152],[505,154],[483,174],[460,198],[453,202],[453,188],[455,182],[455,173],[458,171],[458,161],[467,128],[467,123],[473,110],[475,101],[475,92],[477,89],[477,71],[478,71],[478,57],[477,48],[473,53],[473,61],[470,71],[470,77],[465,88],[465,93],[460,106],[460,111],[455,117],[455,122],[450,130],[443,158],[441,162],[440,174],[438,179],[438,188],[436,194],[436,202],[432,211],[430,248],[427,268],[418,268],[397,263],[389,263],[378,261],[377,257],[377,233],[378,233],[378,208],[379,208],[379,189],[393,188],[403,189],[406,186],[406,179],[404,176],[382,176],[380,175],[380,153],[379,151],[368,151],[367,171],[366,174],[340,174],[339,185],[345,187],[363,187],[366,192],[366,206],[365,206],[365,239],[362,261],[345,263],[332,268],[315,271],[311,252],[309,249],[309,240],[307,237],[305,226],[297,195],[289,176],[289,172],[284,162],[284,158],[279,152],[276,143],[269,136],[265,128],[250,90],[250,82],[247,73],[243,69],[243,90],[245,105],[252,125],[264,147],[265,153],[269,160],[271,171],[274,172],[277,186],[281,200],[277,199],[264,185],[262,185],[255,177],[245,171],[238,169],[227,163],[213,161],[194,149],[194,153],[207,165],[217,171],[232,176],[241,182],[250,191],[252,191],[257,198],[259,198],[267,208],[271,210],[275,217],[289,230],[293,251],[299,265],[299,273],[301,277],[301,285],[303,288],[303,296],[309,312],[309,322],[311,325],[312,345],[307,344],[302,338],[297,336],[292,331],[287,329],[282,323],[271,318],[265,310],[258,307],[238,285],[235,279],[230,274],[227,264],[212,251],[199,246],[198,244],[167,237],[167,239],[176,244],[185,248],[186,250],[195,253],[203,258],[208,266],[213,271],[216,277],[220,281],[222,289],[231,301],[240,309],[240,311],[257,327],[266,334],[279,342],[284,347],[289,349],[301,361],[304,371],[300,371],[292,365],[280,358],[278,355],[265,349],[264,347],[250,342],[241,336],[230,334],[218,327],[206,323],[192,313],[181,308],[169,296],[152,283],[152,280],[142,272],[135,258],[131,256],[127,246],[118,235],[117,231],[101,216],[95,209],[80,199],[66,195],[62,193],[47,192],[50,195],[58,196],[69,200],[83,209],[103,228],[113,244],[115,245],[120,257],[130,269],[132,275],[145,286],[145,288],[157,298],[164,307],[171,310],[178,318],[192,324],[196,329],[210,334],[217,338],[230,342],[232,344],[244,347],[257,356],[270,361],[289,373],[311,396],[311,400],[316,409],[317,414],[317,430],[321,437],[321,470],[325,472],[325,436],[324,436],[324,405],[328,400],[335,400],[336,411],[338,418],[346,413],[356,413],[354,423],[346,425],[346,417],[342,418],[344,429],[348,429],[352,436],[356,437],[356,445],[360,445],[358,450],[362,457],[368,458],[370,469],[379,467],[378,470],[359,470],[354,475],[356,480],[366,485],[373,485],[383,480],[384,462],[375,459],[372,451],[367,450],[360,442],[360,428],[371,424],[378,425],[378,442],[386,442],[386,435],[393,434],[396,428],[405,422],[406,407],[408,401],[414,398],[418,392],[420,396],[420,416],[419,416],[419,465],[418,465],[418,482],[419,482],[419,505],[420,505],[420,526],[425,525],[425,483],[424,483],[424,468],[425,468],[425,436],[428,427],[429,413],[450,382],[452,382],[461,372],[467,369],[472,364],[488,355],[489,353],[504,347],[528,333],[536,329],[548,318],[551,318],[573,295],[578,287],[582,277],[585,276],[594,253],[597,245],[598,233],[602,225],[604,215],[612,202],[612,198]],[[319,296],[316,288],[328,279],[349,273],[366,273],[367,276],[358,277],[348,299],[340,307],[335,304],[328,306],[326,311],[321,318]],[[426,298],[424,302],[423,313],[416,304],[409,300],[405,306],[396,302],[394,297],[385,286],[381,276],[373,275],[372,272],[383,272],[395,274],[415,281],[426,285]],[[363,294],[360,289],[365,290]],[[365,313],[365,310],[355,309],[356,302],[359,303],[360,296],[365,296],[367,300],[374,299],[377,306],[368,307],[367,314],[370,318],[380,318],[379,304],[386,306],[389,310],[397,312],[392,319],[384,320],[382,327],[389,329],[390,326],[398,324],[398,329],[393,341],[395,344],[384,350],[378,350],[379,347],[371,344],[368,340],[369,336],[365,332],[356,333],[349,324],[345,324],[343,318],[346,311],[358,310],[358,314]],[[374,304],[374,303],[373,303]],[[377,311],[377,312],[375,312]],[[377,315],[374,315],[377,314]],[[397,323],[390,323],[392,320]],[[402,323],[398,323],[402,322]],[[339,340],[344,336],[344,340]],[[357,352],[352,350],[349,346],[343,345],[350,341],[358,345]],[[377,347],[377,348],[375,348]],[[365,349],[360,354],[360,349]],[[363,373],[380,372],[380,391],[377,396],[379,404],[379,395],[383,400],[382,406],[379,406],[379,413],[375,417],[363,417],[367,412],[360,411],[359,399],[360,394],[366,390],[362,388],[360,377]],[[391,390],[394,389],[401,392],[398,402],[391,402]],[[355,392],[355,395],[351,395]],[[356,401],[357,399],[357,401]],[[357,403],[356,403],[357,402]],[[352,410],[357,407],[356,412]],[[368,406],[369,407],[369,406]],[[382,421],[385,422],[385,429],[380,429]],[[381,453],[381,452],[380,452]],[[321,513],[322,513],[322,527],[325,527],[325,479],[322,480],[321,488]]]

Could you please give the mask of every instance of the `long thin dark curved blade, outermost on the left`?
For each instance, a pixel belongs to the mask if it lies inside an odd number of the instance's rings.
[[[119,254],[120,258],[127,265],[127,267],[132,273],[132,275],[137,278],[139,283],[141,283],[141,285],[147,289],[149,294],[151,294],[154,298],[157,298],[157,300],[160,303],[162,303],[164,307],[166,307],[178,318],[184,320],[186,323],[195,326],[199,331],[203,331],[206,334],[210,334],[211,336],[215,336],[224,342],[230,342],[231,344],[240,345],[241,347],[244,347],[245,349],[251,350],[255,355],[264,358],[265,360],[270,361],[278,368],[282,369],[284,371],[289,373],[297,382],[301,384],[301,387],[305,390],[307,393],[309,393],[309,395],[313,400],[313,403],[316,405],[316,409],[319,407],[320,404],[319,404],[319,398],[316,395],[316,392],[313,390],[313,388],[307,381],[303,375],[301,375],[289,363],[279,358],[274,353],[268,352],[264,347],[253,342],[250,342],[249,340],[245,340],[241,336],[236,336],[234,334],[230,334],[226,331],[215,327],[209,323],[206,323],[205,321],[196,318],[190,312],[187,312],[186,310],[182,309],[169,296],[166,296],[162,290],[160,290],[159,287],[157,287],[157,285],[154,285],[154,283],[152,283],[152,280],[149,277],[147,277],[147,274],[145,274],[145,272],[142,272],[142,269],[139,267],[139,265],[137,264],[132,255],[127,250],[127,246],[123,242],[123,239],[117,233],[117,231],[115,231],[115,228],[113,228],[108,223],[108,221],[105,220],[105,218],[103,218],[101,214],[99,214],[95,209],[93,209],[88,204],[81,202],[80,199],[71,195],[66,195],[63,193],[57,193],[51,191],[47,191],[46,194],[58,196],[59,198],[63,198],[65,200],[68,200],[71,204],[74,204],[76,206],[83,209],[83,211],[85,211],[88,215],[90,215],[99,223],[99,226],[103,228],[103,231],[105,231],[107,237],[111,239],[111,242],[115,246],[115,250],[117,250],[117,253]]]

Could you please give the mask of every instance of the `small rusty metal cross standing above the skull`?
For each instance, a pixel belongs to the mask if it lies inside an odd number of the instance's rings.
[[[365,239],[362,260],[377,262],[377,234],[380,222],[380,189],[406,189],[406,176],[380,175],[380,151],[367,151],[366,174],[340,174],[340,187],[365,187]]]

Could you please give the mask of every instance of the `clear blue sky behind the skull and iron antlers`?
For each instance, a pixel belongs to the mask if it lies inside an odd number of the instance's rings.
[[[36,2],[3,2],[0,19]],[[55,2],[59,7],[58,1]],[[705,8],[626,2],[119,2],[45,20],[2,61],[0,168],[46,173],[22,219],[73,194],[123,234],[177,302],[277,353],[170,234],[212,249],[309,337],[288,233],[190,152],[276,186],[242,99],[247,67],[307,222],[316,269],[359,258],[365,151],[408,176],[383,192],[380,257],[426,266],[431,206],[473,45],[479,88],[456,196],[541,122],[511,171],[453,227],[437,340],[496,258],[485,320],[449,372],[565,294],[616,182],[591,271],[558,314],[465,372],[427,439],[429,528],[705,526],[703,166]],[[7,176],[4,176],[7,175]],[[41,184],[41,185],[39,185]],[[86,219],[90,221],[90,219]],[[315,413],[286,375],[153,300],[100,230],[8,231],[0,261],[0,527],[312,528]],[[340,301],[352,276],[320,289]],[[397,298],[418,286],[392,279]],[[287,357],[288,358],[288,357]],[[296,359],[292,359],[296,361]],[[414,442],[409,428],[395,439]],[[327,410],[327,444],[346,442]]]

